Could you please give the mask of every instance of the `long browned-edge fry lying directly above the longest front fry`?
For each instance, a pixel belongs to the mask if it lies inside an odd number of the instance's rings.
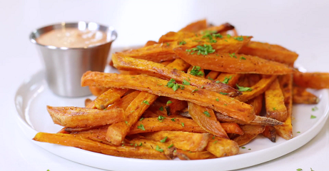
[[[236,96],[239,94],[237,90],[231,88],[230,86],[227,86],[224,83],[216,83],[216,81],[198,78],[196,76],[192,76],[191,74],[178,71],[177,69],[168,68],[166,66],[161,65],[160,63],[154,63],[152,61],[146,61],[143,59],[131,58],[128,56],[119,56],[117,54],[113,54],[112,59],[114,66],[121,70],[137,71],[141,73],[146,73],[151,76],[154,76],[154,74],[156,73],[156,77],[167,79],[173,78],[179,82],[183,82],[185,80],[188,84],[191,84],[191,86],[196,86],[198,88],[203,87],[207,90],[229,93],[229,95],[231,96]]]

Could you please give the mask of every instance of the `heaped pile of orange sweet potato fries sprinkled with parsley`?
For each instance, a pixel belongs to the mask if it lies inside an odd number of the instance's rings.
[[[97,98],[85,108],[47,106],[64,128],[34,140],[156,160],[237,155],[258,135],[289,140],[293,103],[318,103],[306,88],[329,88],[329,73],[301,73],[297,53],[251,38],[202,20],[113,53],[120,74],[84,73],[81,86]]]

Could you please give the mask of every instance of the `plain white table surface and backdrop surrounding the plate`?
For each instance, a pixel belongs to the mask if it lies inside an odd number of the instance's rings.
[[[309,71],[329,72],[328,1],[0,1],[0,170],[98,170],[47,152],[18,128],[14,95],[41,58],[29,33],[61,21],[96,21],[114,26],[114,47],[157,40],[198,19],[230,22],[254,40],[277,43],[300,54]],[[241,170],[328,170],[329,123],[300,149]],[[261,157],[261,156],[260,156]],[[238,165],[238,162],[237,162]],[[218,166],[220,167],[220,166]],[[170,167],[168,167],[170,168]],[[174,170],[174,168],[171,168]]]

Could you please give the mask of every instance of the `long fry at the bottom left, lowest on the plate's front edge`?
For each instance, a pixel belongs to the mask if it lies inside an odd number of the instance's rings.
[[[169,157],[163,154],[163,152],[151,150],[147,147],[106,145],[101,142],[88,140],[87,138],[70,134],[37,133],[33,140],[71,147],[79,147],[83,150],[99,152],[105,155],[114,155],[118,157],[156,160],[169,159]]]

